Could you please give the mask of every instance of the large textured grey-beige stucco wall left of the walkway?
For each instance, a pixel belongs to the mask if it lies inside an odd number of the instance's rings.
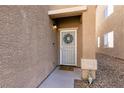
[[[47,12],[47,6],[0,6],[0,87],[37,87],[56,66]]]

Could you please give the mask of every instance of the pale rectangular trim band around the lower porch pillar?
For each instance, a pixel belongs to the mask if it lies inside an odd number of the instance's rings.
[[[97,70],[96,59],[81,59],[81,69]]]

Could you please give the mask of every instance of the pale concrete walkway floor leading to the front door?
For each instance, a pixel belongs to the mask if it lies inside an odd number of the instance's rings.
[[[57,67],[40,85],[40,88],[74,88],[74,79],[81,79],[80,68],[74,68],[74,71],[65,71],[59,70]]]

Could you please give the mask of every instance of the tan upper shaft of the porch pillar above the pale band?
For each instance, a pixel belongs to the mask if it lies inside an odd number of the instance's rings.
[[[82,15],[82,58],[95,59],[96,6],[88,6]]]

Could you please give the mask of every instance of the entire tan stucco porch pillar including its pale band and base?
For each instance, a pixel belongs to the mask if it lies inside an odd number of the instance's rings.
[[[96,78],[96,6],[88,6],[82,14],[82,79],[88,80],[89,74]]]

